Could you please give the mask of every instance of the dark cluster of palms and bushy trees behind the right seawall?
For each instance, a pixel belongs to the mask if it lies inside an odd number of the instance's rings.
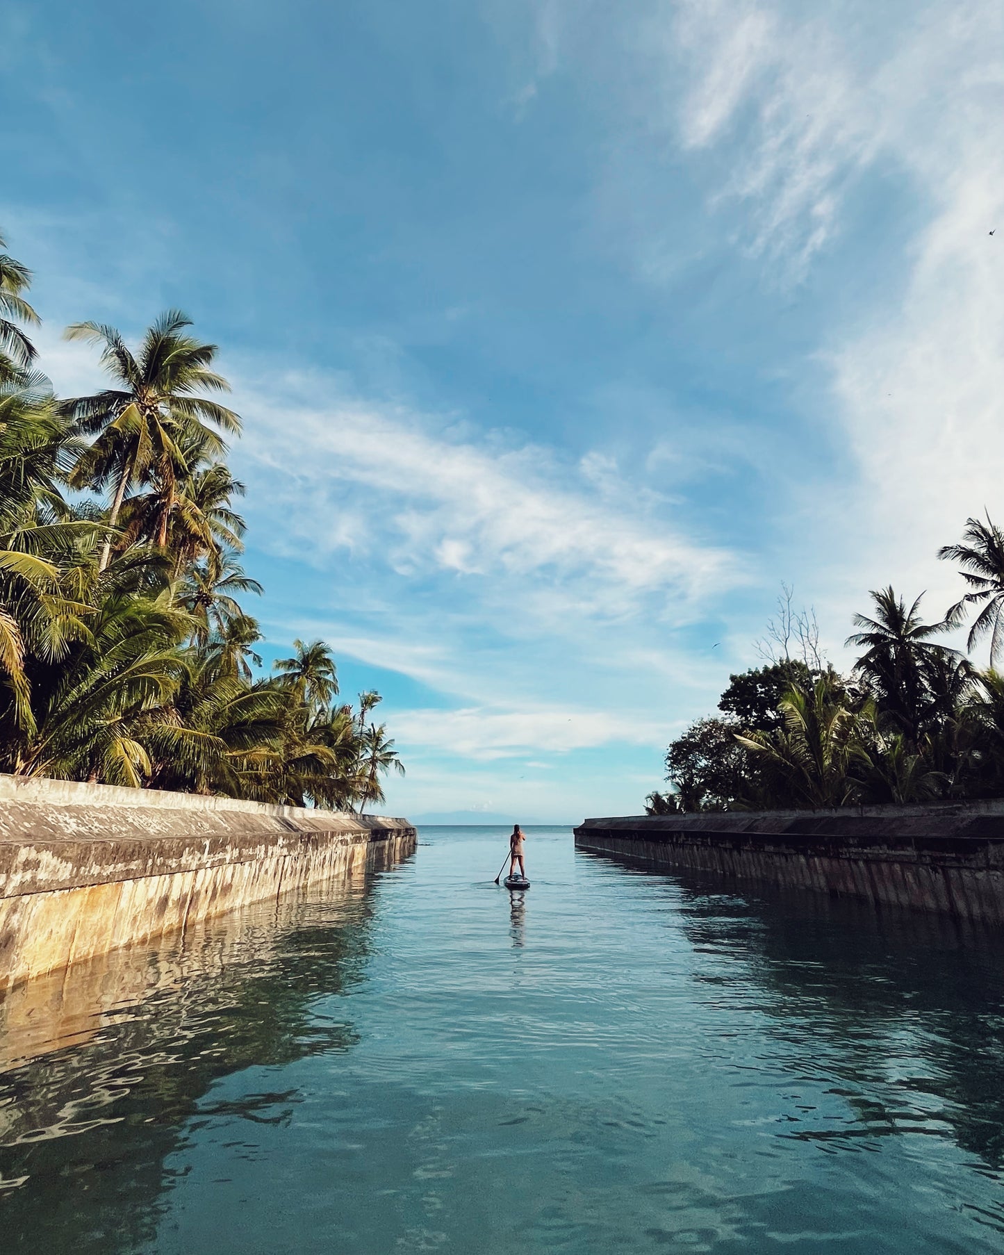
[[[650,814],[707,809],[821,808],[1004,796],[1004,532],[970,518],[939,557],[959,565],[968,591],[926,622],[892,587],[855,615],[848,676],[782,656],[730,676],[722,717],[702,719],[669,747],[670,789]],[[944,635],[966,617],[966,651]],[[990,638],[990,665],[970,654]]]

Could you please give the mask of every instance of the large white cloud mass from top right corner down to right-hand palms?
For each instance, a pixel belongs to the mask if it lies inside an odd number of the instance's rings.
[[[725,10],[759,15],[745,63]],[[789,492],[814,516],[801,560],[816,567],[809,586],[830,585],[827,617],[846,621],[867,587],[890,580],[911,595],[929,589],[934,615],[959,592],[937,546],[968,515],[1004,513],[1004,241],[989,235],[1004,226],[1004,10],[929,4],[865,35],[853,4],[807,18],[784,4],[688,13],[698,83],[710,90],[729,72],[735,88],[719,113],[692,93],[684,132],[725,143],[740,105],[752,110],[720,195],[749,205],[754,251],[807,266],[841,230],[843,193],[865,167],[911,193],[890,241],[902,282],[850,326],[826,329],[820,349],[832,395],[817,404],[846,433],[860,478],[816,486],[811,502]]]

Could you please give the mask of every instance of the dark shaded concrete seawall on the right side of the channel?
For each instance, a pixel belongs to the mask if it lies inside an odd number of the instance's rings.
[[[1004,925],[1004,801],[586,820],[575,843]]]

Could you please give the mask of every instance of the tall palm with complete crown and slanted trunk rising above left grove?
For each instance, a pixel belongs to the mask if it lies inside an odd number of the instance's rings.
[[[226,446],[213,428],[241,429],[233,410],[202,395],[228,392],[230,384],[210,369],[217,346],[188,335],[184,329],[191,325],[179,310],[168,310],[146,333],[136,355],[113,326],[75,323],[67,329],[70,340],[102,345],[102,365],[118,385],[63,403],[79,430],[97,437],[78,462],[74,486],[103,488],[114,483],[108,515],[114,528],[127,489],[136,482],[153,482],[164,502],[156,536],[161,547],[167,543],[177,481],[187,469],[186,441],[220,454]],[[109,550],[110,535],[100,570],[108,566]]]

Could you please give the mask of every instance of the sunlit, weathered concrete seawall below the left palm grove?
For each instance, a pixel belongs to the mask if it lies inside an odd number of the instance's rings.
[[[0,990],[414,848],[407,820],[0,776]]]

